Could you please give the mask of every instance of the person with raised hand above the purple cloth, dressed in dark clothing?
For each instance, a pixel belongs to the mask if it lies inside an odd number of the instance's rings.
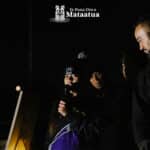
[[[86,57],[83,56],[85,56],[84,53],[78,54],[78,57],[65,67],[63,79],[64,88],[52,105],[45,149],[48,149],[49,144],[54,140],[55,136],[61,129],[70,123],[73,125],[73,122],[76,122],[84,115],[82,112],[78,112],[77,109],[79,101],[81,101],[83,89],[83,84],[81,84],[81,81],[83,83],[82,69],[86,59]]]

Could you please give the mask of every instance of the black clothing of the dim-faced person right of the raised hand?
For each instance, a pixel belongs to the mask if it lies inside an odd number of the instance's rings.
[[[89,92],[80,102],[80,110],[85,113],[78,128],[81,150],[100,149],[103,129],[109,124],[103,113],[105,96],[103,89],[89,86]]]

